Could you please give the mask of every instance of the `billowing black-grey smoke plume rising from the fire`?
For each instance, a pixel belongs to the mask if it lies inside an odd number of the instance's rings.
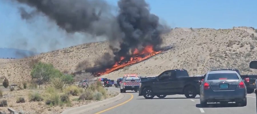
[[[159,23],[156,15],[150,13],[145,0],[119,0],[117,15],[112,14],[112,7],[103,0],[16,1],[36,8],[31,13],[21,8],[23,19],[43,13],[67,33],[84,32],[107,37],[115,57],[103,55],[95,62],[97,70],[111,67],[121,56],[131,56],[131,50],[135,48],[140,52],[145,46],[152,45],[154,50],[159,50],[162,44],[160,35],[168,30]]]

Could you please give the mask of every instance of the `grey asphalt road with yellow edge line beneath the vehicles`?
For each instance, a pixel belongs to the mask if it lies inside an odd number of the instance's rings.
[[[114,87],[109,90],[119,91]],[[256,114],[255,94],[247,94],[247,106],[240,107],[235,103],[222,106],[219,103],[208,104],[200,107],[199,95],[188,99],[184,95],[168,95],[164,99],[144,99],[138,92],[127,91],[120,101],[94,109],[87,114]],[[125,103],[124,103],[125,102]]]

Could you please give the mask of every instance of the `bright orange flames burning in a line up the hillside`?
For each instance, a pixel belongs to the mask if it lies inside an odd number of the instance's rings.
[[[121,68],[123,68],[125,66],[141,62],[143,60],[146,60],[146,59],[150,58],[151,56],[159,54],[160,52],[161,51],[158,51],[158,52],[154,51],[153,50],[153,46],[151,46],[151,45],[146,46],[144,48],[144,50],[142,52],[140,52],[140,54],[139,54],[138,49],[135,49],[133,51],[133,55],[135,55],[135,56],[136,55],[145,55],[145,56],[144,57],[134,57],[134,58],[131,57],[130,61],[126,61],[126,62],[123,62],[123,63],[121,62],[121,60],[125,59],[125,57],[121,57],[120,61],[116,62],[115,65],[113,65],[112,68],[106,69],[104,72],[97,73],[97,76],[101,76],[101,75],[104,75],[104,74],[109,74],[109,73],[111,73],[111,72],[113,72],[113,71],[115,71],[117,69],[121,69]]]

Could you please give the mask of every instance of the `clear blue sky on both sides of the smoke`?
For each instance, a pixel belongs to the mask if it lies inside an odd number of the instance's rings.
[[[117,6],[118,0],[107,0]],[[146,0],[151,13],[170,27],[257,28],[257,0]],[[90,42],[76,34],[69,38],[47,18],[34,19],[28,24],[22,20],[17,4],[0,0],[0,47],[21,48],[47,52],[58,48]],[[40,27],[40,29],[38,29]],[[37,28],[37,29],[36,29]],[[48,31],[45,31],[47,29]],[[100,38],[101,40],[101,38]],[[54,45],[54,46],[53,46]]]

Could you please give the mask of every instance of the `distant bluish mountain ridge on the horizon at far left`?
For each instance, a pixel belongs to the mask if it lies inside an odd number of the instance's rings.
[[[0,48],[0,58],[25,58],[40,53],[15,48]]]

